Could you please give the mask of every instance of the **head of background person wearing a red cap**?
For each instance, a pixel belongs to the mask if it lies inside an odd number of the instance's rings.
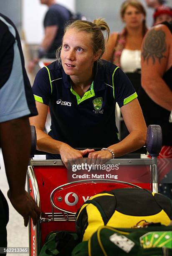
[[[162,5],[157,8],[154,12],[154,25],[162,23],[164,21],[171,21],[172,20],[172,8]]]

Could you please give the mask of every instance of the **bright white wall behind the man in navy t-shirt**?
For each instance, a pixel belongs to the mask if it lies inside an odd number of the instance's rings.
[[[58,0],[59,4],[75,11],[75,0]],[[22,24],[27,44],[40,44],[43,38],[43,18],[47,10],[39,0],[22,1]]]

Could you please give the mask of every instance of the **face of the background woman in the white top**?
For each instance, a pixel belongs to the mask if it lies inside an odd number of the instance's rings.
[[[142,26],[145,16],[137,8],[132,5],[129,5],[124,13],[123,21],[126,23],[126,26],[129,27],[139,27]]]

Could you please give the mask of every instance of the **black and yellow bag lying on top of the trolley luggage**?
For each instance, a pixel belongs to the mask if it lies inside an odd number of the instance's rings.
[[[141,220],[169,225],[171,200],[147,189],[124,188],[102,192],[87,200],[77,213],[76,232],[88,241],[102,225],[132,228]]]

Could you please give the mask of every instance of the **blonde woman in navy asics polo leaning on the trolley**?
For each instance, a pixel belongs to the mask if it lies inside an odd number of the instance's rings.
[[[38,116],[30,123],[36,128],[37,149],[48,152],[47,159],[59,159],[60,154],[66,166],[70,159],[83,161],[87,153],[100,164],[100,159],[122,156],[146,142],[147,128],[134,87],[119,67],[100,60],[105,49],[102,31],[109,36],[109,27],[100,18],[69,24],[58,60],[40,69],[33,84]],[[129,129],[123,141],[115,124],[116,102]],[[46,134],[48,105],[52,125]]]

